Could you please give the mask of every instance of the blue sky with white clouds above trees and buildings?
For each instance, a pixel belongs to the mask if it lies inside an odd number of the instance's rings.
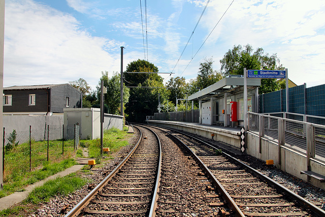
[[[276,53],[297,85],[325,84],[325,1],[207,2],[6,0],[4,87],[83,78],[94,90],[102,72],[120,72],[121,46],[123,70],[146,59],[164,83],[188,81],[205,58],[219,71],[223,55],[246,44]]]

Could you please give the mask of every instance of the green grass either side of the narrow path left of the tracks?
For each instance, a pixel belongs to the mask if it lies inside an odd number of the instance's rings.
[[[117,152],[122,146],[128,145],[127,139],[131,137],[132,134],[127,134],[126,130],[120,131],[118,129],[110,129],[104,132],[104,147],[109,147],[111,153],[104,153],[103,157],[101,156],[100,139],[81,140],[80,147],[88,147],[89,157],[96,159],[97,166],[101,161],[105,162],[105,160],[113,159],[112,154]],[[82,151],[80,149],[76,152],[74,151],[73,140],[64,142],[64,156],[62,156],[61,153],[62,142],[50,141],[49,152],[52,157],[50,158],[50,162],[47,162],[44,160],[44,158],[46,159],[45,153],[47,150],[47,142],[46,144],[45,142],[34,142],[34,145],[40,146],[40,148],[38,149],[38,154],[35,153],[33,155],[36,156],[35,158],[38,160],[32,163],[34,168],[32,171],[29,171],[29,159],[28,161],[22,159],[24,158],[24,155],[27,154],[26,148],[29,154],[29,143],[27,145],[18,145],[13,150],[6,152],[5,171],[7,172],[7,176],[4,183],[4,190],[0,191],[0,198],[15,191],[24,191],[23,188],[26,185],[35,183],[36,181],[42,180],[75,165],[76,161],[73,158],[75,156],[82,156]],[[21,164],[28,164],[27,169],[22,170],[20,167]],[[10,171],[8,171],[10,169],[14,172],[10,173]],[[80,172],[89,173],[89,170],[83,168]],[[23,203],[0,211],[0,216],[25,216],[25,213],[28,214],[35,212],[38,208],[37,204],[48,201],[55,195],[68,195],[69,193],[80,189],[87,182],[86,179],[80,178],[80,172],[47,181],[42,187],[38,187],[32,191]]]

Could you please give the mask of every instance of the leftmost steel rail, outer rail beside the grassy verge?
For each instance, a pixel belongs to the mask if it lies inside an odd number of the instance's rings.
[[[139,129],[138,129],[139,130]],[[140,130],[139,130],[140,131]],[[64,217],[71,217],[71,216],[77,216],[82,208],[84,208],[87,204],[89,204],[90,200],[99,192],[101,191],[104,186],[107,184],[109,180],[112,179],[112,177],[118,172],[118,170],[126,163],[126,161],[131,157],[131,155],[134,153],[134,151],[137,149],[137,147],[140,144],[142,138],[142,133],[140,131],[140,139],[137,142],[137,144],[134,146],[134,148],[127,154],[127,156],[124,158],[124,160],[108,175],[106,176],[103,181],[101,181],[91,192],[86,195],[74,208],[72,208]]]

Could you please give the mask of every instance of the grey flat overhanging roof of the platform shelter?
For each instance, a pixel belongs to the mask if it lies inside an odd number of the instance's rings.
[[[261,79],[247,78],[247,90],[261,86]],[[223,97],[227,92],[229,95],[238,94],[244,89],[244,77],[227,77],[188,96],[188,100],[208,101],[210,98]]]

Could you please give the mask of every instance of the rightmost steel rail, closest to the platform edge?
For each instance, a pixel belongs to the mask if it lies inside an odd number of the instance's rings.
[[[208,145],[209,147],[213,148],[213,149],[217,149],[216,147],[214,147],[213,145],[200,140],[196,137],[193,137],[191,135],[188,135],[186,133],[171,129],[171,128],[166,128],[166,127],[161,127],[161,128],[165,128],[165,129],[169,129],[175,132],[178,132],[180,134],[186,135],[192,139],[195,139],[197,141],[200,141],[206,145]],[[280,191],[284,192],[287,196],[289,196],[291,199],[298,201],[300,204],[304,205],[305,207],[308,207],[312,212],[314,212],[314,214],[316,214],[316,216],[325,216],[325,211],[322,210],[321,208],[319,208],[318,206],[314,205],[313,203],[309,202],[308,200],[306,200],[305,198],[297,195],[296,193],[294,193],[293,191],[285,188],[283,185],[279,184],[278,182],[274,181],[272,178],[262,174],[261,172],[258,172],[257,170],[255,170],[254,168],[248,166],[247,164],[239,161],[238,159],[230,156],[230,154],[222,152],[222,154],[224,154],[225,156],[229,157],[230,159],[234,160],[235,162],[239,163],[240,165],[242,165],[243,167],[247,168],[249,171],[251,171],[252,173],[254,173],[255,175],[257,175],[259,178],[265,180],[266,182],[268,182],[269,184],[273,185],[275,188],[279,189]]]

